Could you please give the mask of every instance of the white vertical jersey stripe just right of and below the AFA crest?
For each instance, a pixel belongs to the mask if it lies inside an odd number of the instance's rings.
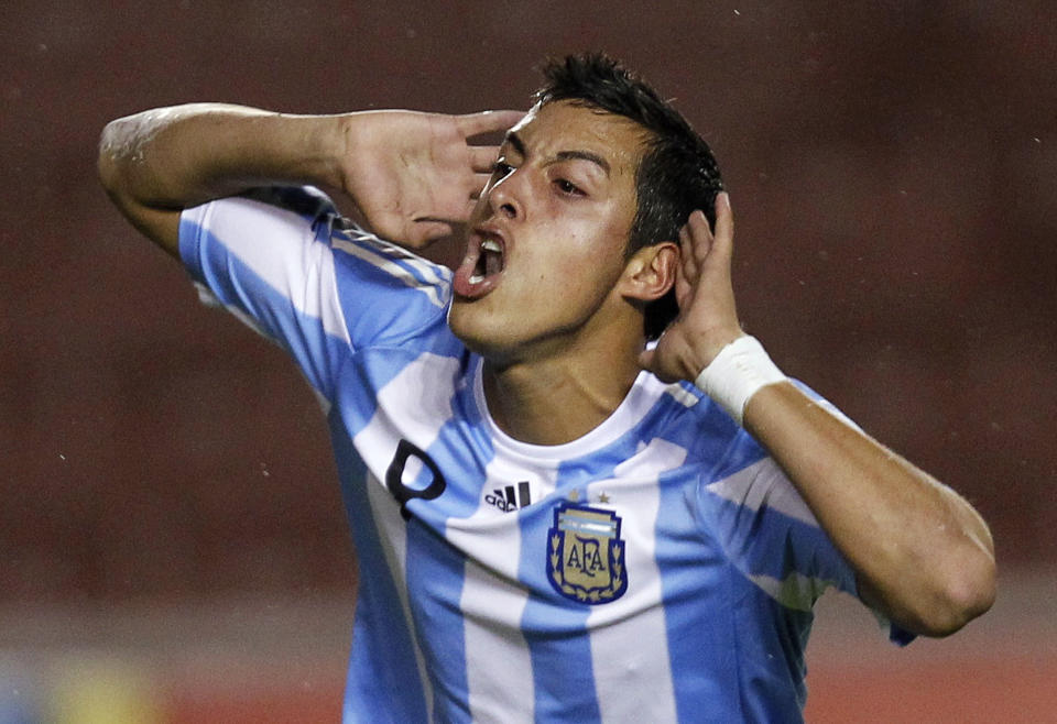
[[[655,536],[661,506],[657,478],[685,459],[682,447],[655,438],[618,465],[615,479],[588,486],[592,507],[612,507],[622,518],[620,537],[628,567],[624,595],[595,606],[587,619],[603,722],[625,722],[629,712],[635,712],[641,722],[676,721]],[[600,494],[609,497],[609,505],[597,503]]]

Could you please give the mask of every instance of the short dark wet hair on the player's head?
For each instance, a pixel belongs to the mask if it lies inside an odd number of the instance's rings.
[[[716,195],[723,189],[711,149],[683,116],[642,78],[601,53],[551,58],[541,67],[542,105],[569,100],[628,118],[647,132],[635,172],[638,207],[628,239],[630,257],[643,246],[677,241],[694,209],[716,223]],[[645,307],[647,339],[656,339],[675,319],[675,290]]]

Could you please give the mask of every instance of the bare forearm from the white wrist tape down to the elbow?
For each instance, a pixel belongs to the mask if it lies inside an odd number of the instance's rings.
[[[755,393],[744,425],[854,568],[869,603],[927,635],[952,633],[990,607],[991,536],[952,490],[789,383]]]

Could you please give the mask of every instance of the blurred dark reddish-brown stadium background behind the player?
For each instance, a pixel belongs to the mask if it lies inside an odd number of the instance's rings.
[[[0,721],[336,721],[355,563],[323,418],[108,205],[111,118],[524,107],[639,68],[711,142],[747,327],[990,522],[991,614],[895,650],[826,600],[810,721],[1057,721],[1057,10],[9,0]]]

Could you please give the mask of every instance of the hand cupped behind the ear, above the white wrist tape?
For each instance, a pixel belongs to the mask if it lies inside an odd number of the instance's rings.
[[[716,197],[716,233],[700,210],[679,230],[675,297],[679,316],[639,364],[664,382],[694,382],[719,351],[744,332],[738,323],[731,257],[734,219],[726,193]]]

